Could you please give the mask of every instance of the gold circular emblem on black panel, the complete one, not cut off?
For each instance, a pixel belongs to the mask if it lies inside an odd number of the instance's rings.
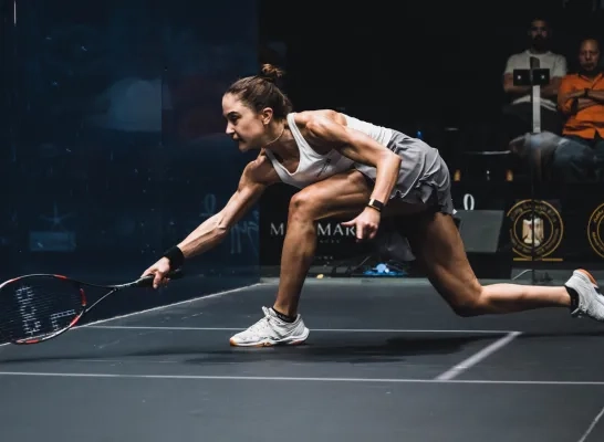
[[[534,210],[534,212],[533,212]],[[552,254],[562,242],[564,224],[560,212],[549,202],[522,200],[509,211],[510,235],[513,251],[530,259],[534,241],[534,255],[544,257]]]

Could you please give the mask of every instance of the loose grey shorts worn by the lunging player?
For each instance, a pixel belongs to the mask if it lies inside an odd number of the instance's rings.
[[[434,147],[420,139],[394,131],[388,148],[400,156],[400,171],[390,199],[407,203],[436,206],[442,213],[455,214],[449,168]],[[355,164],[354,168],[375,182],[376,169]]]

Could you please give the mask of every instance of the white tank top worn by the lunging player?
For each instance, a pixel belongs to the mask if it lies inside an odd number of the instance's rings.
[[[298,149],[300,150],[300,162],[298,169],[291,173],[271,152],[265,149],[267,156],[271,160],[274,170],[281,181],[303,189],[314,182],[322,181],[333,175],[348,170],[354,161],[337,150],[332,149],[325,155],[319,155],[304,139],[294,122],[295,113],[288,114],[288,124],[293,135]],[[363,131],[383,146],[387,146],[392,137],[392,130],[385,127],[374,126],[357,118],[344,115],[348,127]]]

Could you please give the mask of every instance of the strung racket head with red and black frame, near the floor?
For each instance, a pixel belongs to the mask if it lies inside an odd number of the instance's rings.
[[[82,284],[63,275],[19,276],[0,285],[0,338],[39,344],[72,328],[86,312]]]

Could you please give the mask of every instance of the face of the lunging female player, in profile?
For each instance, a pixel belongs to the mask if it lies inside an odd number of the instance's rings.
[[[227,118],[227,134],[238,143],[239,150],[262,147],[270,116],[256,113],[232,94],[222,97],[222,115]]]

